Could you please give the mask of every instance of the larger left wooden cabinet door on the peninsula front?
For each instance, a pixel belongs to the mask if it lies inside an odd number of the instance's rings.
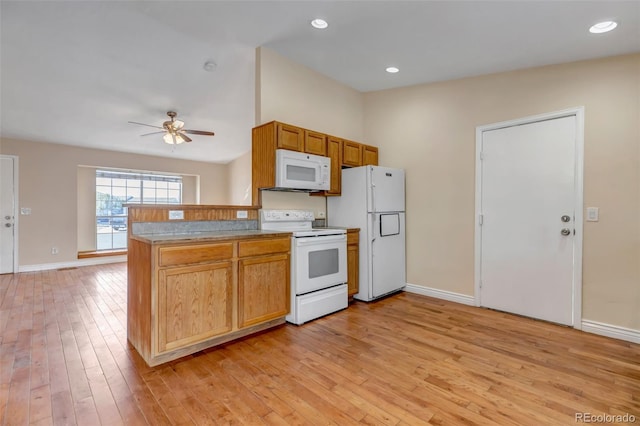
[[[159,271],[157,352],[231,331],[232,262]]]

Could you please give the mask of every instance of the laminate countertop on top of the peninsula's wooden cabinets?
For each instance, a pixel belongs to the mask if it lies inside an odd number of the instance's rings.
[[[291,232],[287,231],[267,231],[262,229],[232,230],[232,231],[207,231],[207,232],[185,232],[167,234],[137,234],[131,235],[134,240],[147,244],[171,244],[183,242],[214,242],[237,239],[290,237]]]

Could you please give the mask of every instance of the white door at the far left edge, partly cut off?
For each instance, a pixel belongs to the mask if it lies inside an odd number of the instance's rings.
[[[14,158],[0,156],[0,274],[14,272]]]

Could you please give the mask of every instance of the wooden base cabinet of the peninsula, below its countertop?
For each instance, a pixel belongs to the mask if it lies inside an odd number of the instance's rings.
[[[285,235],[222,243],[130,240],[129,342],[154,366],[283,324],[290,306]]]

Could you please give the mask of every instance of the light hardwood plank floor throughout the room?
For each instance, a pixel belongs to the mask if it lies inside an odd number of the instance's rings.
[[[0,424],[640,424],[640,345],[413,294],[149,368],[126,281],[0,275]]]

